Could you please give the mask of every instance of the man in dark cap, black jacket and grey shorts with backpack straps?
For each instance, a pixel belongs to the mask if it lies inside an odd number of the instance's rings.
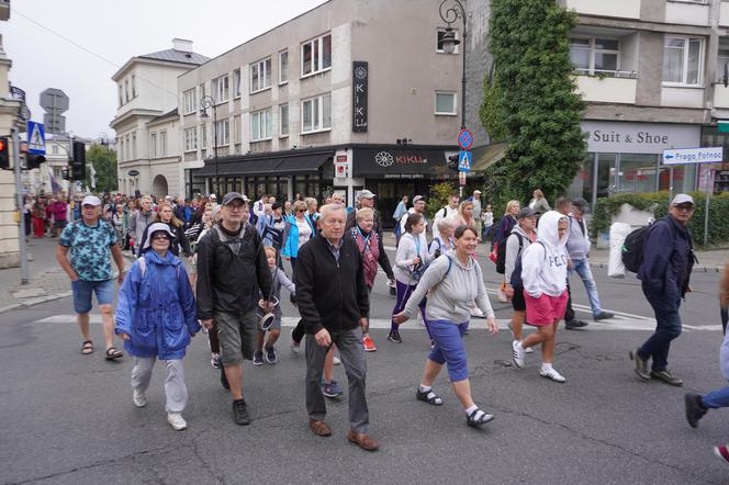
[[[223,198],[222,222],[198,244],[198,318],[210,329],[215,320],[221,343],[223,385],[233,396],[233,419],[248,425],[243,399],[244,359],[253,360],[258,338],[258,287],[270,295],[271,272],[258,232],[244,221],[245,201],[237,192]],[[265,311],[273,306],[266,302]]]

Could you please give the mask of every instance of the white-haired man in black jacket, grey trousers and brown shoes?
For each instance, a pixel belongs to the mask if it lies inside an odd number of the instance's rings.
[[[306,327],[306,410],[309,426],[317,436],[330,436],[324,421],[326,405],[319,386],[324,359],[336,343],[349,382],[347,438],[368,451],[379,448],[368,433],[369,411],[365,395],[367,362],[360,325],[367,324],[369,297],[362,257],[357,245],[345,238],[346,215],[339,204],[322,207],[321,234],[299,250],[296,301]]]

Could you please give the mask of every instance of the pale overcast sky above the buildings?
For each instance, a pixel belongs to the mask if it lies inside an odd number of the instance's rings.
[[[0,33],[12,59],[10,81],[25,90],[32,120],[43,122],[41,92],[58,88],[70,99],[64,113],[67,131],[111,137],[109,122],[116,112],[111,76],[131,57],[172,48],[175,37],[191,40],[194,52],[215,57],[321,3],[11,0],[10,21],[0,22]]]

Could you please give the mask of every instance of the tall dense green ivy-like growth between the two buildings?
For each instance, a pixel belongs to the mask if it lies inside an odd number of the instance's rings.
[[[575,91],[569,50],[576,23],[576,13],[554,0],[492,1],[495,70],[484,81],[480,115],[492,137],[508,144],[506,158],[490,173],[500,178],[502,196],[528,200],[539,188],[553,200],[580,170],[585,103]]]

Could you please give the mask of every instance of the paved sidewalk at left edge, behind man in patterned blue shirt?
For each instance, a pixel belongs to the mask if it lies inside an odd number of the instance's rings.
[[[71,295],[70,280],[56,261],[57,246],[57,238],[29,239],[27,284],[21,284],[20,268],[0,270],[0,313]],[[128,267],[128,259],[124,258],[124,261]]]

